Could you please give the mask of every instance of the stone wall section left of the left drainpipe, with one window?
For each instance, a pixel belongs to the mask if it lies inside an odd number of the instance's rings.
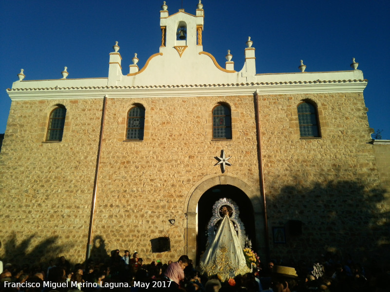
[[[85,258],[103,99],[13,101],[0,153],[1,255],[6,262]],[[43,142],[66,107],[61,142]]]

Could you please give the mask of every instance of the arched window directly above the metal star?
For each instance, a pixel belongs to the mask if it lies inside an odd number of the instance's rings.
[[[232,115],[225,105],[213,109],[213,139],[232,139]]]

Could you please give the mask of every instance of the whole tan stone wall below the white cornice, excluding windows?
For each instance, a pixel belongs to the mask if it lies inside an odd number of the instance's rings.
[[[322,138],[300,139],[296,106],[304,99],[318,106]],[[212,140],[211,114],[219,102],[231,107],[232,140]],[[144,140],[125,141],[126,113],[135,103],[145,108]],[[63,140],[43,142],[56,104],[67,109]],[[42,259],[84,259],[102,104],[103,98],[12,102],[0,153],[0,229],[7,230],[0,257],[38,252]],[[374,252],[388,239],[378,208],[388,208],[389,200],[368,143],[366,111],[361,93],[260,96],[271,256]],[[145,262],[193,255],[196,200],[205,187],[234,182],[254,204],[257,248],[265,258],[256,131],[253,95],[109,97],[92,256],[117,248],[137,250]],[[215,166],[222,149],[233,164],[224,174]],[[301,234],[289,233],[289,220],[302,222]],[[287,243],[273,244],[272,227],[286,227]],[[367,241],[373,234],[374,245]],[[171,252],[154,254],[150,239],[161,236],[170,237]]]

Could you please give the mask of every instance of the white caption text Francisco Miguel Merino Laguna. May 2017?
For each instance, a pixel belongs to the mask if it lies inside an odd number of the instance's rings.
[[[152,282],[140,282],[135,281],[133,284],[133,287],[140,287],[140,288],[168,288],[171,286],[170,281],[152,281]],[[24,282],[24,283],[14,283],[14,282],[7,282],[4,281],[4,288],[99,288],[99,287],[105,287],[105,288],[129,288],[132,287],[129,283],[105,283],[105,282],[98,282],[98,283],[92,283],[92,282],[85,282],[85,283],[77,283],[77,282],[50,282],[50,281],[42,281],[42,283],[31,283],[31,282]]]

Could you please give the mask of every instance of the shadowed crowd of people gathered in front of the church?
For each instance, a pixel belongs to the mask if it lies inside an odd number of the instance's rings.
[[[318,263],[262,262],[251,273],[224,282],[201,274],[188,256],[166,263],[145,263],[138,253],[111,252],[105,262],[72,265],[64,256],[47,263],[7,263],[0,271],[0,292],[388,292],[390,269],[372,261],[362,266],[348,256],[326,254]]]

